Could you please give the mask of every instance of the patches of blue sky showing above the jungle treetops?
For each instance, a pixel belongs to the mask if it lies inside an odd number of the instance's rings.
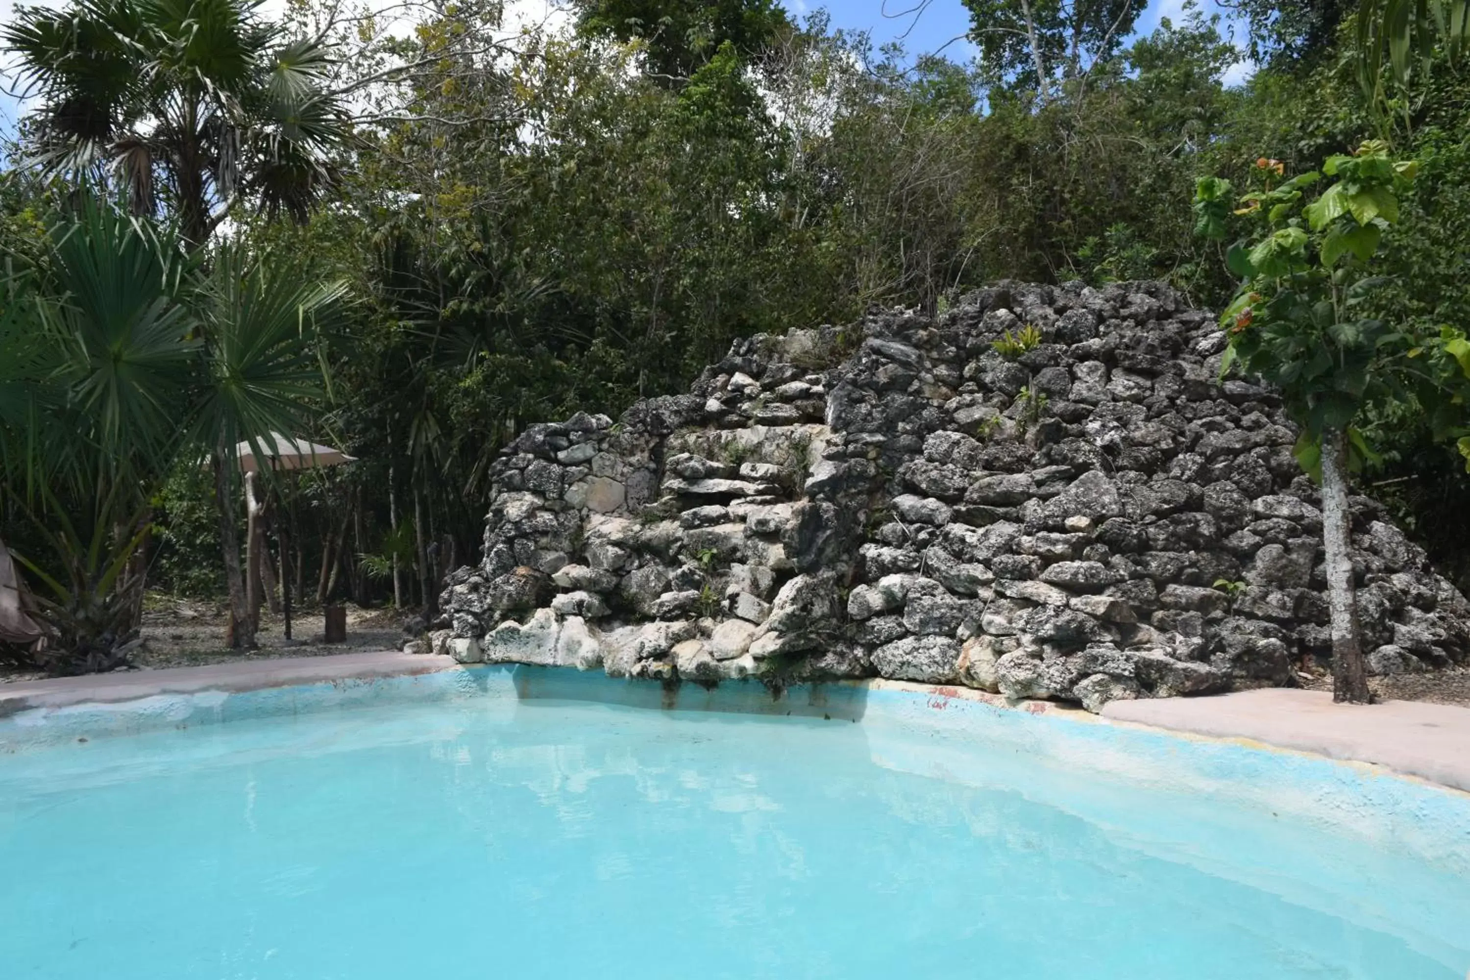
[[[28,1],[60,6],[60,0]],[[278,3],[279,0],[268,0],[268,9],[272,1]],[[550,0],[509,0],[507,6],[525,7],[516,13],[539,19],[548,3]],[[967,60],[973,53],[973,47],[963,38],[970,16],[960,0],[929,0],[922,10],[917,10],[922,0],[782,0],[782,3],[797,18],[803,18],[817,7],[826,7],[833,26],[870,31],[875,47],[903,40],[910,54],[944,48],[948,57]],[[1148,7],[1139,16],[1135,34],[1150,34],[1163,18],[1172,18],[1177,22],[1183,16],[1186,0],[1147,0],[1147,3]],[[1201,3],[1207,12],[1229,13],[1216,6],[1214,0],[1201,0]],[[0,0],[0,22],[7,22],[13,9],[15,0]],[[1250,65],[1236,65],[1226,81],[1232,84],[1244,81],[1250,72]],[[3,85],[3,90],[9,88],[9,84]],[[16,98],[3,90],[0,90],[0,134],[10,134],[15,131],[19,106]]]

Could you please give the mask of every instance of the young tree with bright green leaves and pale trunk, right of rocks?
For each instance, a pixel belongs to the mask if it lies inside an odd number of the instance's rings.
[[[1204,178],[1195,191],[1197,231],[1222,241],[1232,219],[1244,234],[1226,251],[1239,276],[1220,316],[1229,335],[1220,373],[1239,369],[1280,391],[1301,426],[1297,458],[1322,483],[1323,542],[1333,645],[1333,696],[1369,699],[1357,633],[1348,554],[1349,472],[1373,457],[1355,422],[1369,406],[1414,403],[1442,438],[1464,436],[1470,344],[1451,328],[1421,334],[1372,314],[1388,285],[1374,267],[1383,232],[1399,219],[1413,160],[1394,160],[1367,141],[1322,172],[1286,178],[1279,160],[1260,159],[1255,188],[1232,207],[1227,181]],[[1323,179],[1314,198],[1308,191]]]

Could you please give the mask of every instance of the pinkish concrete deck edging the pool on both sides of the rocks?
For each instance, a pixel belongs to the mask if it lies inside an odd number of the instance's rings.
[[[420,676],[457,667],[450,657],[382,651],[53,677],[0,685],[0,717],[34,708]],[[964,688],[881,683],[1004,705],[995,695]],[[1020,707],[1033,713],[1069,711],[1048,702]],[[1069,713],[1083,716],[1079,710]],[[1102,720],[1367,763],[1470,792],[1470,708],[1419,701],[1339,705],[1324,692],[1263,689],[1205,698],[1114,701],[1104,707]]]

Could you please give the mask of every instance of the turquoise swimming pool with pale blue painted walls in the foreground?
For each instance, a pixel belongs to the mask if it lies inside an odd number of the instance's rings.
[[[6,980],[1467,970],[1452,861],[878,711],[485,696],[0,755]]]

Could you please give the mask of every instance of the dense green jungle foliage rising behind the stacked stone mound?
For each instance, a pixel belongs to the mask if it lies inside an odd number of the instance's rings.
[[[297,432],[362,460],[295,497],[298,592],[320,599],[432,611],[437,576],[473,558],[507,438],[679,391],[738,336],[873,304],[936,310],[1001,278],[1160,278],[1223,309],[1244,269],[1225,241],[1250,217],[1232,200],[1222,234],[1201,237],[1191,201],[1205,175],[1252,187],[1261,159],[1320,172],[1385,141],[1417,176],[1395,187],[1396,220],[1374,225],[1354,322],[1414,336],[1470,325],[1470,76],[1448,21],[1399,37],[1383,4],[1244,3],[1258,65],[1227,84],[1242,53],[1219,21],[1191,10],[1138,35],[1136,3],[975,0],[973,63],[875,51],[770,0],[581,0],[570,26],[519,32],[491,0],[410,6],[410,29],[325,0],[262,26],[247,6],[150,4],[143,40],[118,54],[156,66],[146,85],[112,62],[76,81],[47,26],[129,0],[9,28],[60,69],[0,173],[0,231],[10,267],[41,276],[85,170],[103,200],[182,222],[206,263],[228,237],[310,256],[344,284]],[[1382,29],[1360,31],[1361,16]],[[228,87],[188,82],[201,53],[181,25],[206,18],[229,29],[197,44],[238,38],[234,60],[207,62]],[[1414,71],[1395,75],[1407,50]],[[71,112],[93,91],[113,94]],[[54,166],[82,147],[84,167]],[[1470,585],[1451,550],[1470,497],[1445,420],[1405,392],[1351,428],[1370,451],[1358,479],[1410,527],[1435,527],[1430,552]],[[173,467],[147,488],[153,582],[226,580],[215,519],[190,502],[198,480]]]

